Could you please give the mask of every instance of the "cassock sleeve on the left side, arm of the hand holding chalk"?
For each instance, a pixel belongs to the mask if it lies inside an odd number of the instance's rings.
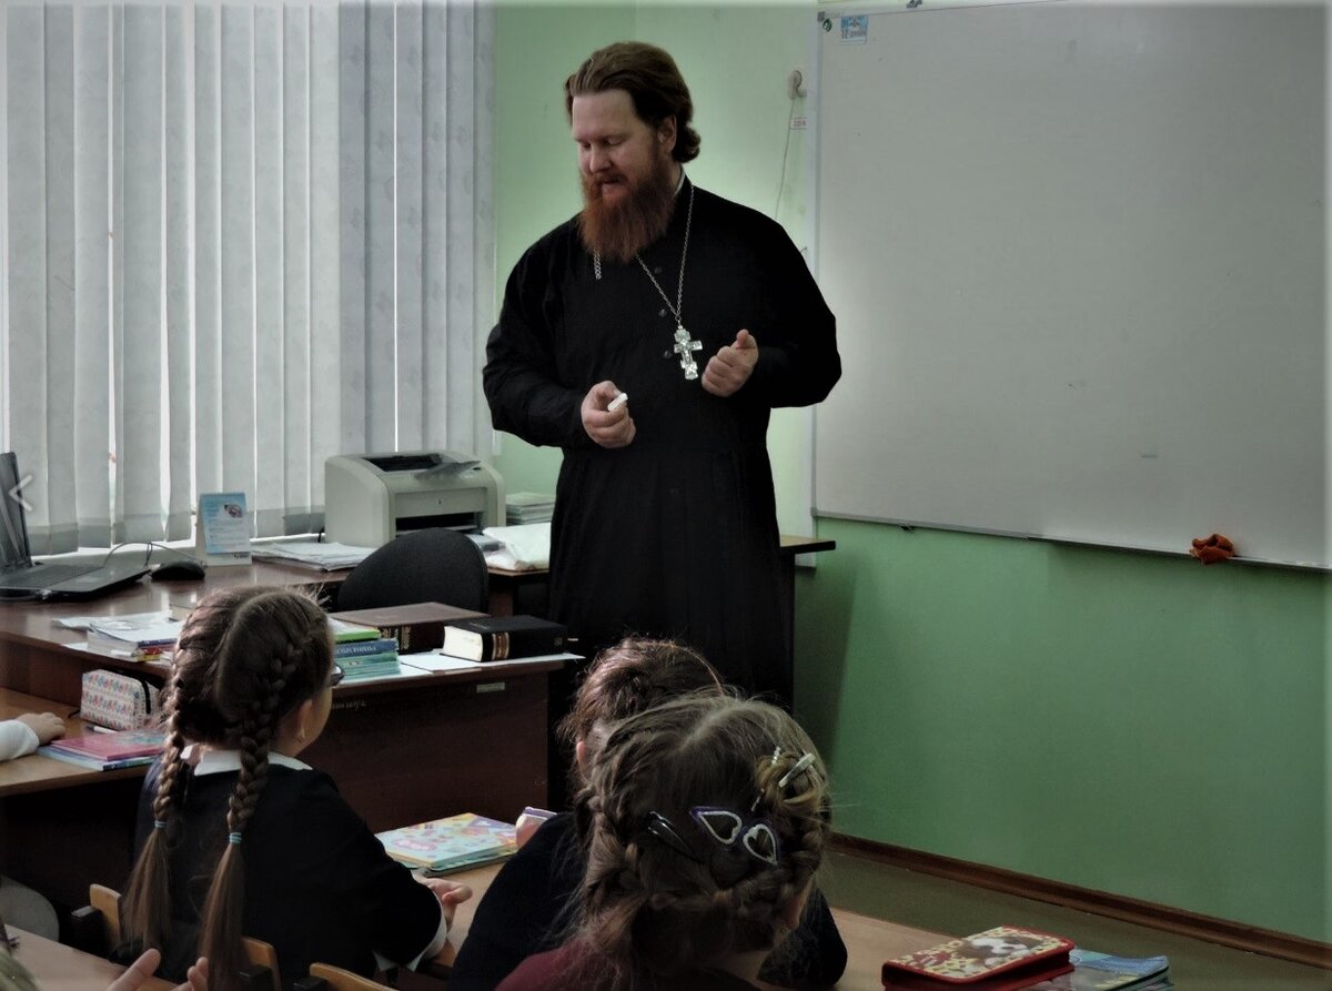
[[[550,237],[527,249],[505,286],[481,373],[496,429],[529,444],[590,448],[583,393],[559,382],[553,321],[559,318]]]

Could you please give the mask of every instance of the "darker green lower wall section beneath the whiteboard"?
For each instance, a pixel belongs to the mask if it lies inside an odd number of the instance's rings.
[[[825,519],[840,831],[1328,938],[1329,578]]]

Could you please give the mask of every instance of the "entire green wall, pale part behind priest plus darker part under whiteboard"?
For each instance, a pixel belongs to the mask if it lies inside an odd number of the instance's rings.
[[[771,213],[813,11],[501,7],[501,277],[578,206],[561,84],[613,40],[671,51],[703,136],[690,174]],[[806,135],[779,214],[802,246]],[[783,410],[769,438],[787,531],[809,525],[807,424]],[[559,454],[505,436],[496,464],[551,492]],[[798,709],[840,831],[1332,940],[1332,578],[817,522],[838,549],[799,577]]]

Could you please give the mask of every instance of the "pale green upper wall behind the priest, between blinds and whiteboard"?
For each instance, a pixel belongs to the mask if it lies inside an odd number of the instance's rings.
[[[813,25],[814,8],[803,4],[501,5],[496,27],[500,278],[507,278],[527,245],[578,210],[565,79],[595,48],[630,39],[671,52],[690,85],[694,123],[703,137],[701,156],[687,165],[690,177],[769,216],[781,205],[778,218],[793,240],[810,245],[809,132],[793,131],[786,140],[791,116],[786,79],[797,65],[809,71]],[[797,113],[803,113],[805,103],[797,103]],[[809,416],[793,409],[773,414],[769,453],[783,533],[813,533]],[[505,436],[494,464],[509,492],[554,492],[559,452]]]

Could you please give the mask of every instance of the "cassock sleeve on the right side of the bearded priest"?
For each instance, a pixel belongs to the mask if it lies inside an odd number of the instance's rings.
[[[775,324],[754,330],[758,364],[745,388],[755,389],[769,406],[822,402],[842,377],[836,320],[786,232],[771,224],[770,230],[754,236],[770,245],[762,265],[775,300]]]

